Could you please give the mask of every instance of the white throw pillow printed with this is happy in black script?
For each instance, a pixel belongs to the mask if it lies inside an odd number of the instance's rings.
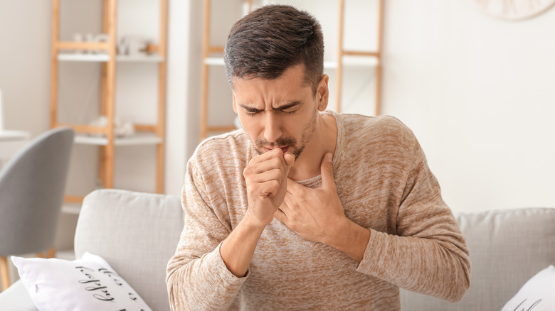
[[[152,311],[104,259],[92,253],[75,261],[16,256],[11,261],[40,311]]]

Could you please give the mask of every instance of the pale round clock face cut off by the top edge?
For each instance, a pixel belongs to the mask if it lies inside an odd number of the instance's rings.
[[[503,19],[523,19],[549,9],[555,0],[474,0],[482,11]]]

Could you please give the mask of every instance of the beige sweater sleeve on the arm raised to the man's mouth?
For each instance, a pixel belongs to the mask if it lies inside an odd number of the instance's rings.
[[[181,196],[185,226],[166,270],[171,310],[228,310],[248,277],[237,278],[221,258],[231,228],[211,208],[204,185],[189,160]]]

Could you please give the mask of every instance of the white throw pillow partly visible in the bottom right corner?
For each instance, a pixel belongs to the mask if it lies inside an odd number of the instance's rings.
[[[555,310],[555,267],[539,271],[520,288],[502,311]]]

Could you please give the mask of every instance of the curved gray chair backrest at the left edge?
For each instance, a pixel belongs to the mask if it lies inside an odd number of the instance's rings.
[[[52,129],[0,170],[0,256],[53,246],[72,146],[72,129]]]

